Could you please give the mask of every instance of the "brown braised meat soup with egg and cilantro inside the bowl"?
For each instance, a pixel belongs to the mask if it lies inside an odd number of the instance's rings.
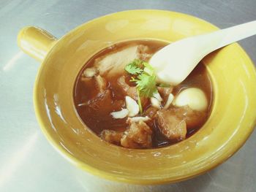
[[[147,62],[165,45],[156,40],[121,42],[85,64],[74,100],[91,131],[121,147],[146,149],[180,142],[203,126],[213,96],[206,67],[199,64],[180,85],[157,82]]]

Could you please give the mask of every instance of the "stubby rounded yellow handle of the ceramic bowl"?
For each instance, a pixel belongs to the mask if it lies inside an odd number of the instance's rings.
[[[37,61],[43,61],[56,42],[56,37],[35,26],[24,27],[18,34],[18,46]]]

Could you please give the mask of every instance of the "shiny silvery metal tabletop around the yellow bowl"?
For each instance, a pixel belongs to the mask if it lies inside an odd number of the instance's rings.
[[[256,20],[255,0],[8,0],[0,1],[0,191],[256,191],[256,132],[224,164],[169,185],[103,180],[72,166],[50,146],[34,115],[32,91],[39,64],[17,46],[23,26],[61,37],[93,18],[127,9],[167,9],[220,28]],[[256,63],[256,37],[239,42]]]

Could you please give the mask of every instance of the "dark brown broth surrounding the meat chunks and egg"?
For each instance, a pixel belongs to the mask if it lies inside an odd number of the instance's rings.
[[[148,47],[150,47],[150,53],[155,53],[157,52],[157,50],[167,45],[167,43],[155,40],[136,40],[131,42],[121,42],[111,47],[108,47],[105,50],[100,51],[99,53],[94,55],[94,57],[91,58],[85,64],[85,66],[83,66],[83,69],[81,69],[80,74],[78,74],[74,87],[75,108],[78,111],[78,115],[86,124],[86,126],[88,126],[91,129],[91,131],[94,131],[94,133],[97,135],[99,135],[101,131],[105,129],[113,131],[125,131],[128,128],[129,125],[126,123],[127,118],[114,119],[110,116],[110,112],[121,110],[122,107],[125,108],[124,98],[126,95],[122,93],[121,88],[116,83],[120,75],[105,77],[108,82],[107,87],[111,92],[111,101],[109,103],[104,102],[101,108],[100,106],[98,108],[96,107],[95,109],[87,107],[86,103],[88,103],[97,95],[97,89],[94,87],[93,82],[83,82],[81,80],[82,74],[84,69],[94,64],[95,59],[101,57],[102,55],[115,53],[116,51],[122,49],[123,47],[126,47],[127,45],[147,45]],[[129,74],[127,74],[126,72],[124,72],[123,74],[125,75],[127,82],[129,82]],[[206,97],[208,99],[208,111],[206,119],[203,121],[203,123],[205,123],[209,113],[211,112],[211,100],[213,96],[211,80],[206,71],[206,66],[204,66],[201,63],[198,64],[193,70],[193,72],[189,74],[189,77],[187,77],[187,79],[184,80],[184,82],[181,82],[181,84],[174,87],[172,93],[175,96],[184,88],[189,87],[200,88],[204,93],[206,93]],[[145,107],[145,110],[150,106],[151,104],[150,102],[148,102],[147,106]],[[148,125],[151,125],[151,129],[153,130],[152,147],[164,147],[167,145],[172,145],[177,142],[176,140],[169,140],[164,135],[162,135],[162,133],[159,131],[156,120],[152,120],[148,123]],[[195,128],[188,129],[186,138],[190,137],[192,134],[195,134],[195,132],[201,126],[203,126],[203,124]]]

